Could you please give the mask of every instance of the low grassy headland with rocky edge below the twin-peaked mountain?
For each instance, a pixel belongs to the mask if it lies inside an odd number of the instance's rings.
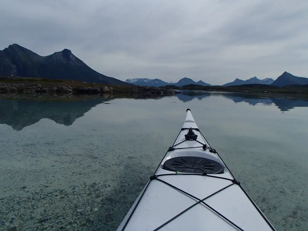
[[[0,94],[40,94],[67,97],[81,95],[132,95],[143,97],[170,96],[177,92],[163,87],[110,85],[76,80],[8,77],[0,78]]]

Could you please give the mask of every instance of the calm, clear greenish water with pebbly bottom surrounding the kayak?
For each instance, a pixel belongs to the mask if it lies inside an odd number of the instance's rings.
[[[0,99],[0,230],[115,230],[190,108],[277,230],[308,230],[308,101]]]

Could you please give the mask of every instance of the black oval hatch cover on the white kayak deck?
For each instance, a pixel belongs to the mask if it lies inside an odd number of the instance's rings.
[[[164,169],[172,172],[221,174],[223,166],[215,160],[197,156],[178,156],[166,160]]]

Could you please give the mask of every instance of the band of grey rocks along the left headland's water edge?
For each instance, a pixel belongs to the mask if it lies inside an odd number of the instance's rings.
[[[98,94],[116,94],[116,95],[138,95],[138,96],[171,96],[177,92],[172,89],[165,89],[160,87],[146,87],[136,86],[131,89],[121,89],[121,87],[107,87],[107,86],[91,86],[91,87],[80,87],[73,85],[51,85],[42,86],[37,83],[1,83],[0,82],[0,93],[1,94],[66,94],[66,95],[98,95]]]

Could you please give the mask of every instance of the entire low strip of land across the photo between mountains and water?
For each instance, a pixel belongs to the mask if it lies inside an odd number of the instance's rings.
[[[210,92],[241,92],[264,97],[297,97],[308,99],[308,85],[277,87],[267,84],[245,84],[236,86],[201,86],[188,84],[182,87],[166,85],[148,87],[138,85],[110,85],[87,83],[76,80],[58,80],[30,77],[0,78],[0,95],[46,95],[60,98],[85,97],[86,95],[113,95],[117,97],[162,97],[178,94],[182,90]]]

